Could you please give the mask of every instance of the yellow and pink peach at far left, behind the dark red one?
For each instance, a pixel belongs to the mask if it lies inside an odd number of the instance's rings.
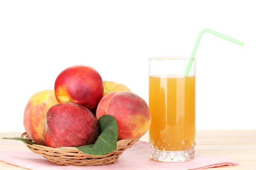
[[[46,145],[43,137],[43,125],[47,110],[58,104],[54,90],[37,92],[28,100],[24,110],[23,124],[27,135],[37,144]]]

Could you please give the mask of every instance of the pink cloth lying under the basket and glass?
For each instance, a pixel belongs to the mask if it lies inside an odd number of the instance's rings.
[[[59,166],[33,152],[0,151],[0,161],[31,170],[201,170],[223,165],[238,165],[235,161],[196,154],[186,162],[158,162],[151,160],[146,142],[139,141],[127,149],[119,160],[105,166]]]

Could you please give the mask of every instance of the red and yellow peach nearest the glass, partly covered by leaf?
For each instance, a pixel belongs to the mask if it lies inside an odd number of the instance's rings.
[[[106,114],[117,120],[118,139],[143,136],[151,123],[146,102],[131,92],[112,92],[104,96],[97,107],[96,118]]]

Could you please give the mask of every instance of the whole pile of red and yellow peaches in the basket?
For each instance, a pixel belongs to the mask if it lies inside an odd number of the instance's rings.
[[[31,96],[24,111],[27,135],[49,147],[94,144],[99,136],[98,119],[113,116],[118,139],[143,136],[151,122],[146,102],[128,87],[103,81],[92,67],[76,65],[64,69],[54,90]]]

